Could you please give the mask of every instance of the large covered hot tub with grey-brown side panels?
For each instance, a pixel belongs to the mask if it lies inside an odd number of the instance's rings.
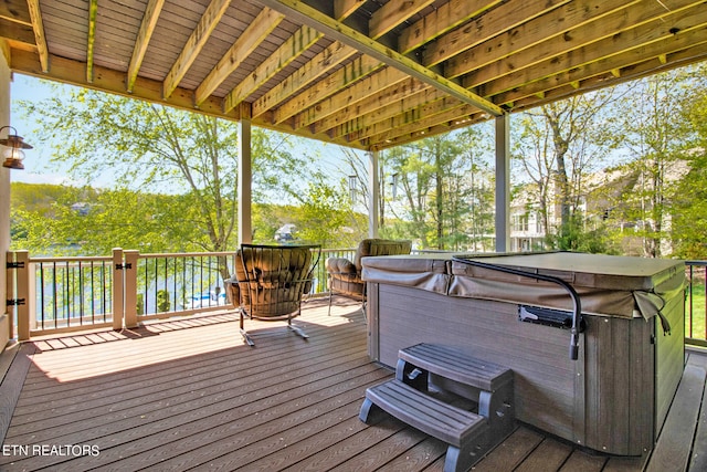
[[[446,254],[362,260],[371,358],[394,367],[403,347],[454,346],[514,370],[518,420],[602,452],[652,450],[683,371],[684,263],[567,252],[473,260],[569,283],[582,306],[577,360],[566,290]]]

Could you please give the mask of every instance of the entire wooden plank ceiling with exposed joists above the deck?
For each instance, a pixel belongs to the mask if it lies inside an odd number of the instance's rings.
[[[0,0],[12,71],[383,149],[707,59],[692,0]]]

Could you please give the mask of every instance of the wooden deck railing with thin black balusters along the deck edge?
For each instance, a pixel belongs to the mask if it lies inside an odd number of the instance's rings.
[[[321,251],[312,295],[327,293],[327,258],[354,259],[355,249]],[[88,328],[136,326],[147,319],[232,308],[224,276],[234,252],[32,258],[8,253],[8,310],[20,340]],[[686,261],[685,338],[707,347],[707,261]]]

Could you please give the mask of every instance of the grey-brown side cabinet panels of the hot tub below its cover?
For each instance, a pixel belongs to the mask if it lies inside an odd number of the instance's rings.
[[[439,266],[443,258],[435,258]],[[532,263],[528,258],[526,265]],[[398,284],[395,273],[387,283],[384,262],[370,262],[377,271],[368,286],[373,359],[392,367],[401,348],[418,343],[454,346],[514,370],[520,421],[602,452],[641,455],[653,448],[683,371],[680,291],[672,291],[662,310],[671,334],[664,334],[658,317],[585,314],[579,358],[571,360],[569,329],[519,321],[520,303],[514,302],[513,290],[506,301],[450,296]],[[682,263],[671,262],[673,276],[684,277]],[[397,261],[395,271],[403,265]],[[450,271],[449,286],[456,276]],[[682,286],[679,281],[674,285]]]

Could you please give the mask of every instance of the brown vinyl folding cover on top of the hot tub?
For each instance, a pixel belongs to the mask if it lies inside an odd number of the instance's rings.
[[[583,313],[625,318],[658,315],[685,283],[685,264],[675,260],[572,252],[462,256],[559,277],[580,295]],[[452,254],[367,258],[363,279],[449,296],[572,310],[558,285],[452,261]]]

